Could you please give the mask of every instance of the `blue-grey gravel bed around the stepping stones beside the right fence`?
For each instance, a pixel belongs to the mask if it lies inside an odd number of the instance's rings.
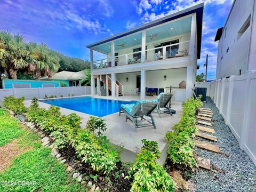
[[[223,121],[219,110],[210,98],[204,102],[205,108],[213,112],[213,127],[218,142],[210,142],[220,147],[221,153],[213,153],[196,148],[201,157],[211,159],[211,170],[196,169],[190,179],[195,191],[256,191],[256,167]],[[207,126],[206,126],[207,127]]]

